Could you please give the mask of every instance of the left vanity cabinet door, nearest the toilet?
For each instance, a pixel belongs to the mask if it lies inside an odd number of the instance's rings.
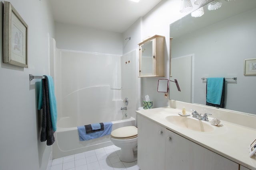
[[[164,170],[165,128],[141,115],[137,122],[140,170]]]

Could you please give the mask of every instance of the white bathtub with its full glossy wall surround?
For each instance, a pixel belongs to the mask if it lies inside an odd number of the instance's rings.
[[[135,125],[131,109],[120,110],[124,107],[121,100],[121,56],[59,51],[56,45],[51,47],[58,110],[52,157],[55,159],[113,145],[110,135],[79,141],[77,126],[112,121],[114,130]]]

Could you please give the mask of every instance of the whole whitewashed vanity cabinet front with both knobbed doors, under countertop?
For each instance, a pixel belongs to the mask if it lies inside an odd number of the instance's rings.
[[[141,170],[239,170],[239,164],[137,114]]]

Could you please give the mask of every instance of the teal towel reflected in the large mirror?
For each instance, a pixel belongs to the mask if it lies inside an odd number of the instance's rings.
[[[223,77],[207,78],[206,102],[220,104],[223,90]]]

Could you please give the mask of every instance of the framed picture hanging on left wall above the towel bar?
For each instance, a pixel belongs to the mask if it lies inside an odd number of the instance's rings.
[[[7,1],[3,24],[3,63],[28,68],[28,25]]]

